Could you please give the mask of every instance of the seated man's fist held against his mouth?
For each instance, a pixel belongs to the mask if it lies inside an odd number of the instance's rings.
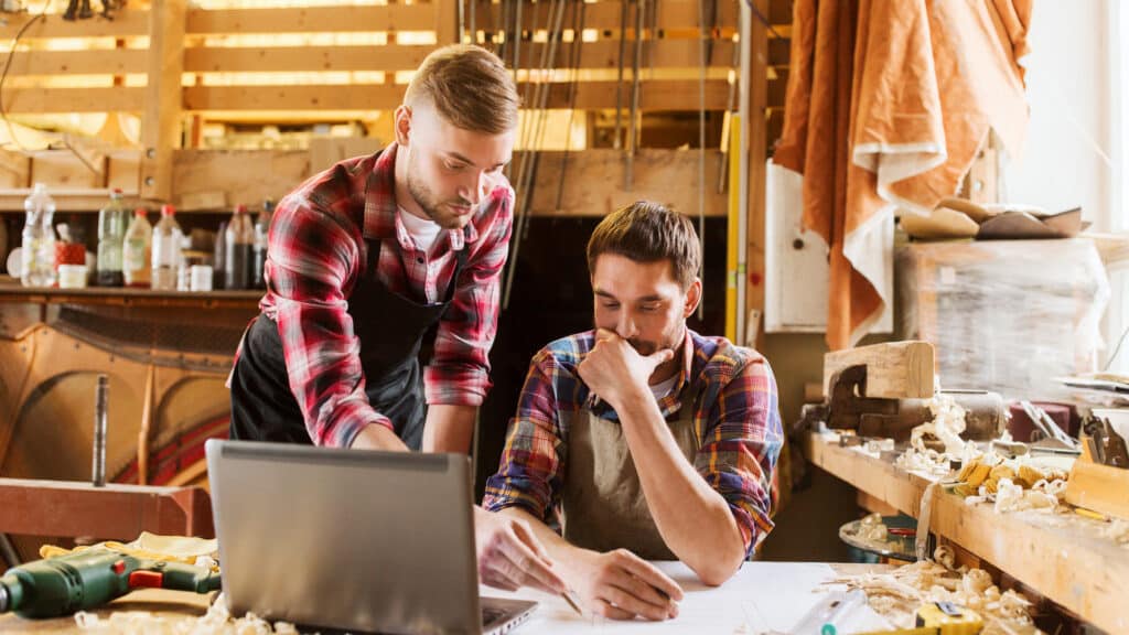
[[[639,355],[628,340],[614,331],[599,329],[596,331],[595,346],[585,355],[576,371],[592,392],[614,408],[631,391],[646,394],[655,368],[673,357],[674,351],[669,349],[647,356]]]

